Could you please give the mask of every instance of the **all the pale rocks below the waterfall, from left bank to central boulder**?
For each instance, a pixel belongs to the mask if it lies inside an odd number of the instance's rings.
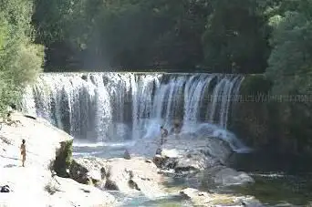
[[[158,155],[157,141],[141,140],[128,149],[125,158],[71,160],[71,136],[43,119],[19,113],[3,124],[0,138],[0,185],[9,186],[9,192],[0,193],[0,201],[6,206],[122,206],[111,191],[150,201],[179,196],[202,206],[255,204],[254,198],[166,185],[175,176],[187,176],[202,185],[253,182],[244,172],[226,167],[233,151],[217,138],[169,137]],[[23,139],[24,168],[19,152]]]

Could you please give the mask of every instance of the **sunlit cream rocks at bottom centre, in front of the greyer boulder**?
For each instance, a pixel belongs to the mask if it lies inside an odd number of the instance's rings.
[[[144,196],[153,201],[180,196],[196,206],[262,206],[252,196],[169,188],[165,181],[170,177],[163,175],[151,160],[140,157],[130,160],[80,158],[73,161],[70,176],[81,183],[91,183],[103,191],[120,191],[124,196]]]

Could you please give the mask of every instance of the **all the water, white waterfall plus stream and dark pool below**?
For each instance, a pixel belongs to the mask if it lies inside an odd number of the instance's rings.
[[[74,157],[122,157],[140,140],[160,137],[160,127],[203,133],[227,141],[236,152],[244,144],[227,130],[244,76],[161,73],[44,73],[27,88],[23,112],[47,119],[74,140]],[[144,147],[136,150],[144,151]],[[153,152],[154,153],[154,152]],[[144,154],[146,156],[146,154]],[[197,186],[203,191],[254,195],[268,206],[312,201],[310,160],[257,152],[235,153],[229,165],[246,171],[255,184],[241,188]],[[290,166],[290,167],[289,167]],[[198,184],[196,178],[168,178],[170,188]],[[112,192],[124,206],[191,206],[179,196],[157,201]]]

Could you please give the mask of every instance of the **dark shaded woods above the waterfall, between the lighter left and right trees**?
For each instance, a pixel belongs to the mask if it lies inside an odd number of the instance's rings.
[[[45,71],[262,73],[270,54],[264,12],[244,0],[36,0]]]

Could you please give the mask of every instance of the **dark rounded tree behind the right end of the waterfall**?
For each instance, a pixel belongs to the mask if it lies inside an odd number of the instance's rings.
[[[217,72],[259,73],[269,48],[266,22],[255,1],[215,0],[203,33],[205,63]]]

